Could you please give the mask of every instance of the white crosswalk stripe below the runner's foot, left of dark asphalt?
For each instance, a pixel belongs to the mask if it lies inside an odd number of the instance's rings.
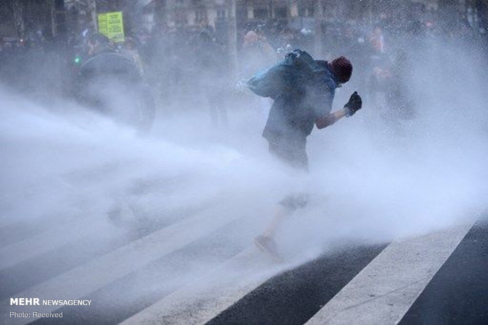
[[[121,324],[204,324],[287,266],[249,247]]]

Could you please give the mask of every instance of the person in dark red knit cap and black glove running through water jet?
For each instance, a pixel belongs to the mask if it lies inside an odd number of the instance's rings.
[[[331,62],[315,61],[305,51],[296,50],[264,75],[251,78],[248,86],[253,92],[274,99],[263,132],[269,152],[307,172],[306,138],[314,125],[323,129],[362,107],[361,96],[354,92],[344,108],[330,113],[335,89],[349,81],[351,74],[352,64],[345,57]],[[276,230],[307,201],[305,194],[289,195],[280,201],[271,223],[254,239],[258,248],[281,260],[274,241]]]

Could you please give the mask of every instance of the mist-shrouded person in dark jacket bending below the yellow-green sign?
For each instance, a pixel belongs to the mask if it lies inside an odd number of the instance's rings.
[[[137,64],[117,53],[102,34],[89,36],[87,49],[88,60],[79,73],[81,101],[118,121],[148,130],[155,105]]]

